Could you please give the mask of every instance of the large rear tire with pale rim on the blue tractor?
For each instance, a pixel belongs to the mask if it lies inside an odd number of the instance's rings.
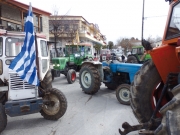
[[[79,83],[86,94],[95,94],[101,86],[100,74],[94,65],[86,64],[79,72]]]

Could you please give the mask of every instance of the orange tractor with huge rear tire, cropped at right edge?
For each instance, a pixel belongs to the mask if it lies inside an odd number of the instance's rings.
[[[142,40],[152,60],[143,64],[131,86],[130,105],[139,125],[123,123],[121,135],[179,135],[180,131],[180,0],[169,2],[162,45]]]

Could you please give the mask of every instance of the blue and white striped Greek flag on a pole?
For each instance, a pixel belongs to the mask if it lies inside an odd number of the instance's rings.
[[[35,34],[33,26],[33,13],[30,3],[25,22],[25,39],[21,52],[14,58],[9,66],[16,71],[24,81],[32,85],[39,85],[36,69]]]

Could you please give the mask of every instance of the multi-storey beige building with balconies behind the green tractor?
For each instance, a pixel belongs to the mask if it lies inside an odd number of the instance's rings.
[[[71,44],[75,38],[78,38],[76,43],[106,45],[106,37],[101,34],[98,25],[89,23],[82,16],[50,16],[49,29],[50,41],[57,42],[57,47]]]

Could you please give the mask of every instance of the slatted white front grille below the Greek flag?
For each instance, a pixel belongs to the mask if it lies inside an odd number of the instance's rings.
[[[17,73],[9,74],[9,84],[11,90],[35,89],[35,85],[30,85],[23,81]]]

